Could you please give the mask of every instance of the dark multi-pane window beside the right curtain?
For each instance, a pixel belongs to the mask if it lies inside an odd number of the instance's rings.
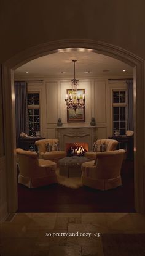
[[[113,91],[113,133],[115,130],[119,130],[120,135],[125,134],[126,113],[126,91]]]

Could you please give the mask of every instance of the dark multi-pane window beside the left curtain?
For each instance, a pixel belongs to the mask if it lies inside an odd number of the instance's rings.
[[[36,136],[36,131],[40,131],[39,93],[28,93],[27,101],[29,136]]]

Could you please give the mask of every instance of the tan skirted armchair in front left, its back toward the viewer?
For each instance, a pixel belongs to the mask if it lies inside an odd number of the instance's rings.
[[[37,159],[37,153],[16,149],[19,167],[18,183],[29,188],[57,183],[56,163]]]

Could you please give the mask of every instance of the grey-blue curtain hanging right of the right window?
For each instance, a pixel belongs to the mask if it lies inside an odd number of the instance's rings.
[[[133,79],[127,80],[127,130],[133,131]]]

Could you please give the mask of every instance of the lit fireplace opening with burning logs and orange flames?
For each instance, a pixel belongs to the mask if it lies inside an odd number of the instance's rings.
[[[84,157],[88,151],[88,143],[66,143],[67,157]]]

